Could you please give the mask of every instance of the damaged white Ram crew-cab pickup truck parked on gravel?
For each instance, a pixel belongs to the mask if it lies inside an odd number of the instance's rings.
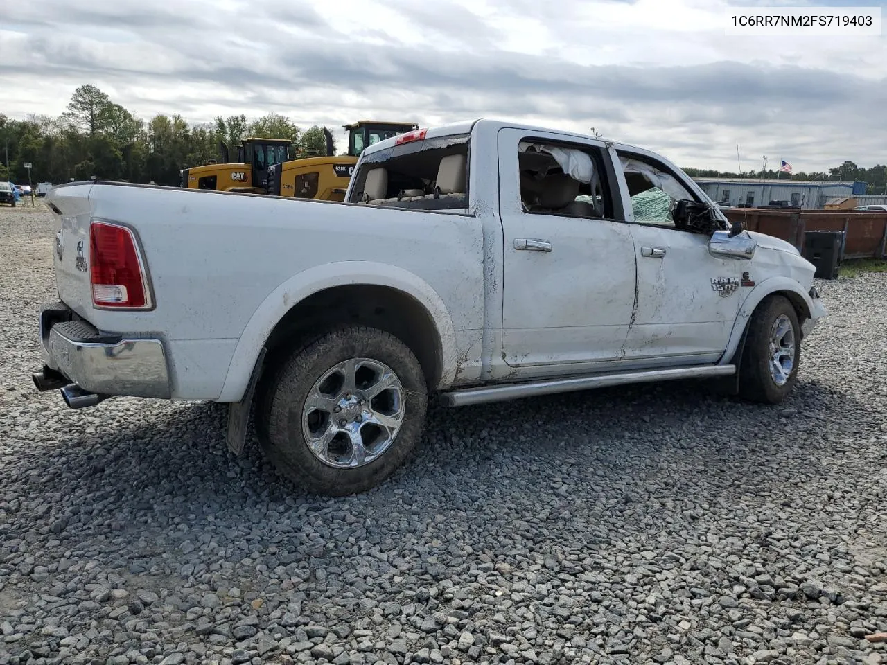
[[[341,203],[105,182],[47,203],[36,386],[230,403],[232,450],[255,413],[279,471],[329,495],[394,472],[432,393],[718,378],[779,403],[826,313],[794,246],[668,160],[502,121],[367,147]]]

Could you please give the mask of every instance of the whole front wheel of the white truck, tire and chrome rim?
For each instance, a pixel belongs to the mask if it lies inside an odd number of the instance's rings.
[[[752,314],[742,353],[739,394],[752,402],[778,404],[797,382],[801,326],[791,302],[775,295]]]

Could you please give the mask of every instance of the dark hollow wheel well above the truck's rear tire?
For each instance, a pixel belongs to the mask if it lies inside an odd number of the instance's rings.
[[[428,387],[437,385],[443,357],[434,319],[412,295],[389,286],[334,286],[312,293],[274,326],[265,342],[268,356],[292,348],[313,332],[342,324],[369,325],[390,332],[416,355]]]

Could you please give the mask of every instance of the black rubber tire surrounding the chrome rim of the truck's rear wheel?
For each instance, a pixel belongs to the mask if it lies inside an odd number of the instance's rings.
[[[350,358],[388,365],[403,387],[403,416],[393,441],[378,458],[355,468],[337,468],[310,449],[302,431],[302,409],[314,384]],[[341,497],[371,489],[403,465],[419,442],[428,411],[425,375],[410,348],[394,335],[362,325],[337,327],[272,358],[270,367],[257,391],[256,433],[278,472],[310,492]]]

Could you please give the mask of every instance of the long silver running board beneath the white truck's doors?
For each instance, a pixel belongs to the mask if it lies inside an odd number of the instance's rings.
[[[588,390],[596,387],[626,386],[630,383],[648,383],[674,379],[710,379],[731,376],[736,373],[733,364],[699,365],[695,367],[675,367],[669,370],[647,370],[643,372],[619,372],[617,374],[594,374],[592,376],[571,377],[568,379],[548,379],[526,383],[507,383],[500,386],[484,386],[452,390],[441,395],[444,406],[468,406],[502,402],[520,397],[554,395],[574,390]]]

